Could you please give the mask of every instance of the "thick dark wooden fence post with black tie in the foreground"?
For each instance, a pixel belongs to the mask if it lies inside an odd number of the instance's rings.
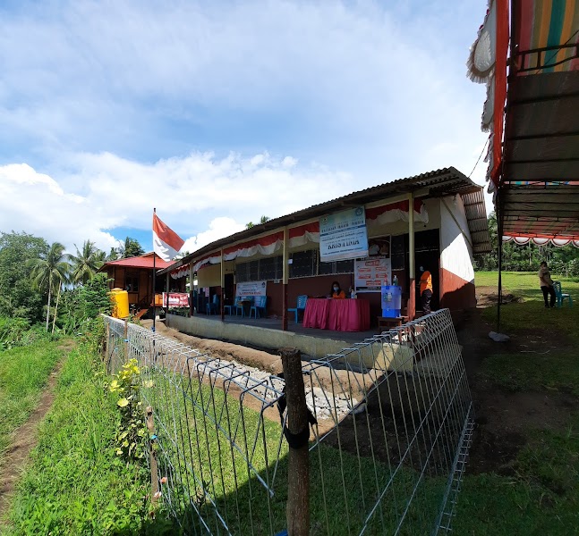
[[[290,443],[287,467],[287,507],[285,510],[289,536],[310,533],[310,463],[308,460],[310,424],[302,377],[302,359],[295,348],[279,350],[284,367],[287,429]],[[305,433],[307,431],[307,437]],[[301,436],[301,440],[290,442]],[[303,440],[305,438],[305,440]],[[292,446],[294,442],[294,446]],[[303,444],[302,444],[303,443]]]

